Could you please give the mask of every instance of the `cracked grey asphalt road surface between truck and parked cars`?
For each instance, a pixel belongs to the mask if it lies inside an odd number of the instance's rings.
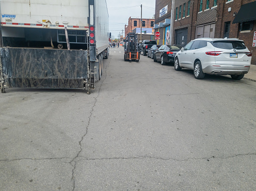
[[[255,190],[256,82],[111,48],[82,90],[0,95],[0,190]]]

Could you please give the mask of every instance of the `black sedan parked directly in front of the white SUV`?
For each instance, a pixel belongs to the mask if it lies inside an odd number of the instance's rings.
[[[174,63],[174,58],[177,52],[182,48],[179,45],[162,45],[154,53],[154,62],[160,61],[162,65]]]

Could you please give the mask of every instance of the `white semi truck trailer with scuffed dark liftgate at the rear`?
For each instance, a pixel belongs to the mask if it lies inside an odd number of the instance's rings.
[[[109,56],[106,0],[0,0],[0,83],[90,93]]]

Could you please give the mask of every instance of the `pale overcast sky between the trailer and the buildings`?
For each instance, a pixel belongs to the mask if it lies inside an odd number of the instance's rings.
[[[109,10],[109,31],[114,38],[118,38],[122,29],[125,30],[125,24],[128,24],[130,16],[141,18],[141,4],[143,19],[153,18],[155,14],[155,0],[106,0],[106,4]]]

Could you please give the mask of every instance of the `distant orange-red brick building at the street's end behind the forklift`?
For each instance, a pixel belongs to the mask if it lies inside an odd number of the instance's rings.
[[[142,30],[143,28],[151,28],[153,31],[155,19],[142,19]],[[141,28],[141,19],[129,18],[128,25],[125,25],[125,36],[129,32],[133,32],[135,28]]]

